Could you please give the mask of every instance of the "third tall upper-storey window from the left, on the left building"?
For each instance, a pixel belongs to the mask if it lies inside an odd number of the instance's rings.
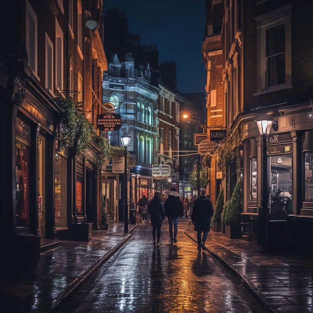
[[[63,90],[63,31],[55,18],[55,88]]]

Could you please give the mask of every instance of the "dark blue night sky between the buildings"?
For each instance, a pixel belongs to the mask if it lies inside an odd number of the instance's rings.
[[[111,8],[125,11],[128,32],[142,45],[156,44],[159,64],[175,61],[178,91],[204,92],[205,0],[103,0],[104,12]]]

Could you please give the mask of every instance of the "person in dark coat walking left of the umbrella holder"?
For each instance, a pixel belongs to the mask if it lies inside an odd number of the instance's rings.
[[[165,218],[165,210],[164,205],[161,200],[161,194],[159,192],[154,193],[153,199],[151,199],[148,212],[150,214],[150,220],[152,225],[152,237],[153,244],[159,246],[160,236],[161,236],[161,226],[162,221]],[[155,241],[155,233],[156,233],[156,241]]]

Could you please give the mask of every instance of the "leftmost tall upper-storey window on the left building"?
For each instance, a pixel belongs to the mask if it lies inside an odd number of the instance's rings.
[[[28,53],[28,66],[37,74],[37,16],[28,1],[26,1],[26,49]]]

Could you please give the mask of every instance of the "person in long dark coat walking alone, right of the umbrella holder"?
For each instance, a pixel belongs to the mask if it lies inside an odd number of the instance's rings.
[[[196,239],[198,244],[198,250],[205,250],[205,240],[210,230],[211,217],[214,213],[214,208],[211,199],[205,196],[206,190],[202,189],[200,196],[195,199],[192,209],[192,223],[194,224],[194,230],[197,231]],[[201,239],[201,234],[202,239]]]

